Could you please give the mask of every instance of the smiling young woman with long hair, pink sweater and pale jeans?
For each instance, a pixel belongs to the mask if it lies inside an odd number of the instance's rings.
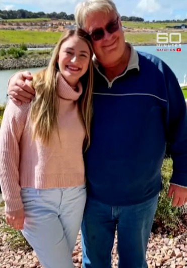
[[[74,267],[86,202],[83,152],[90,143],[92,55],[89,36],[70,30],[48,67],[34,74],[34,100],[22,106],[9,101],[0,129],[6,220],[22,230],[45,268]]]

